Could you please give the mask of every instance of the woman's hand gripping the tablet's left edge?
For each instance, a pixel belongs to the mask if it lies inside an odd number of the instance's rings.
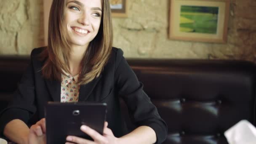
[[[45,118],[39,120],[29,129],[28,144],[46,144]]]

